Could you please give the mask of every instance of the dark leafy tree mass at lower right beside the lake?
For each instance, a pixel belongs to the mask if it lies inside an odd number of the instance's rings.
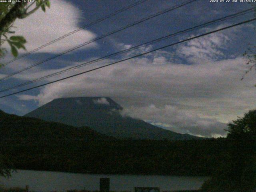
[[[228,158],[204,183],[209,192],[252,192],[256,189],[256,110],[228,124]]]

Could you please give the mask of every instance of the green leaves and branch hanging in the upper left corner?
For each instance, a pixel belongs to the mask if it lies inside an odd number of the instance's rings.
[[[36,3],[35,8],[30,10],[32,4]],[[12,55],[18,56],[18,49],[26,49],[24,44],[26,40],[22,36],[9,36],[14,34],[13,23],[17,18],[26,18],[27,16],[34,13],[38,8],[46,11],[46,6],[50,7],[49,0],[35,0],[32,3],[26,2],[2,2],[0,3],[0,58],[4,58],[6,49],[2,48],[4,42],[8,42],[11,48]]]

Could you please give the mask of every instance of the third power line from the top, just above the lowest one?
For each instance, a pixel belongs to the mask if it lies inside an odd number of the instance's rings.
[[[59,74],[68,72],[68,71],[70,71],[70,70],[74,70],[74,69],[77,69],[77,68],[80,68],[80,67],[83,67],[83,66],[87,66],[87,65],[90,65],[90,64],[93,64],[93,63],[96,63],[96,62],[105,60],[105,59],[107,59],[107,58],[110,58],[110,57],[113,57],[113,56],[116,56],[116,55],[119,55],[119,54],[123,54],[123,53],[129,52],[129,51],[134,50],[134,49],[138,49],[138,48],[143,47],[143,46],[147,46],[147,45],[150,45],[150,44],[154,44],[154,43],[156,43],[156,42],[160,42],[160,41],[162,41],[162,40],[166,40],[167,38],[170,38],[170,37],[174,37],[174,36],[177,36],[177,35],[186,33],[186,32],[190,32],[190,31],[193,31],[193,30],[196,30],[196,29],[199,29],[199,28],[203,28],[203,27],[206,27],[206,26],[209,26],[209,25],[212,25],[212,24],[216,24],[216,23],[221,22],[221,21],[224,21],[224,20],[228,20],[228,19],[231,19],[231,18],[236,18],[236,17],[238,17],[238,16],[242,16],[242,15],[245,15],[245,14],[249,14],[249,13],[251,13],[251,12],[254,12],[255,9],[256,9],[256,8],[250,8],[250,9],[247,9],[247,10],[244,10],[244,11],[241,11],[241,12],[237,12],[237,13],[235,13],[235,14],[231,14],[231,15],[228,15],[228,16],[225,16],[225,17],[222,17],[222,18],[218,18],[218,19],[216,19],[216,20],[212,20],[212,21],[210,21],[210,22],[206,22],[206,23],[204,23],[204,24],[200,24],[200,25],[198,25],[198,26],[194,26],[194,27],[188,28],[188,29],[186,29],[186,30],[182,30],[182,31],[179,31],[179,32],[176,32],[176,33],[173,33],[173,34],[169,34],[169,35],[167,35],[167,36],[164,36],[164,37],[161,37],[161,38],[152,40],[152,41],[150,41],[150,42],[146,42],[146,43],[144,43],[144,44],[140,44],[140,45],[137,45],[137,46],[134,46],[134,47],[131,47],[131,48],[128,48],[128,49],[119,51],[119,52],[115,52],[115,53],[113,53],[113,54],[110,54],[110,55],[107,55],[107,56],[104,56],[104,57],[101,57],[101,58],[98,58],[98,59],[94,59],[94,60],[85,62],[85,63],[83,63],[83,64],[79,64],[79,65],[77,65],[77,66],[70,67],[70,68],[68,68],[68,69],[60,70],[60,71],[58,71],[58,72],[55,72],[55,73],[53,73],[53,74],[49,74],[49,75],[47,75],[47,76],[43,76],[43,77],[41,77],[41,78],[37,78],[37,79],[31,80],[31,81],[28,81],[28,82],[25,82],[25,83],[22,83],[22,84],[19,84],[19,85],[16,85],[16,86],[12,86],[12,87],[9,87],[9,88],[0,90],[0,92],[5,92],[5,91],[8,91],[8,90],[12,90],[12,89],[14,89],[14,88],[19,88],[19,87],[22,87],[22,86],[25,86],[25,85],[28,85],[28,84],[31,84],[31,83],[34,83],[34,82],[37,82],[37,81],[40,81],[40,80],[43,80],[43,79],[52,77],[52,76],[56,76],[56,75],[59,75]]]

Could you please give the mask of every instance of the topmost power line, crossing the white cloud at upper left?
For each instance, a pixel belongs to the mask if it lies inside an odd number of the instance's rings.
[[[38,48],[35,48],[35,49],[31,50],[30,52],[27,52],[26,54],[23,54],[23,55],[21,55],[21,56],[18,56],[18,57],[16,57],[16,58],[14,58],[14,59],[12,59],[12,60],[6,62],[5,64],[2,64],[2,67],[3,67],[3,66],[6,66],[6,65],[8,65],[8,64],[10,64],[10,63],[12,63],[12,62],[14,62],[14,61],[16,61],[16,60],[19,60],[19,59],[21,59],[21,58],[23,58],[23,57],[26,57],[26,56],[28,56],[28,55],[30,55],[30,54],[32,54],[32,53],[34,53],[34,52],[36,52],[36,51],[38,51],[38,50],[44,48],[44,47],[47,47],[47,46],[49,46],[49,45],[51,45],[51,44],[53,44],[53,43],[59,41],[59,40],[62,40],[62,39],[64,39],[64,38],[66,38],[66,37],[68,37],[68,36],[70,36],[70,35],[72,35],[72,34],[78,32],[78,31],[82,30],[82,29],[88,28],[88,27],[90,27],[90,26],[92,26],[92,25],[94,25],[94,24],[98,24],[99,22],[102,22],[102,21],[104,21],[104,20],[106,20],[106,19],[108,19],[108,18],[110,18],[110,17],[112,17],[112,16],[115,16],[116,14],[119,14],[119,13],[121,13],[121,12],[124,12],[124,11],[126,11],[126,10],[128,10],[128,9],[130,9],[130,8],[133,8],[133,7],[135,7],[135,6],[139,5],[139,4],[142,4],[142,3],[146,2],[146,1],[148,1],[148,0],[140,0],[140,1],[138,1],[138,2],[135,2],[134,4],[130,4],[130,5],[127,6],[127,7],[124,7],[124,8],[121,8],[121,9],[119,9],[119,10],[116,10],[115,12],[113,12],[113,13],[111,13],[111,14],[109,14],[109,15],[106,15],[106,16],[104,16],[103,18],[99,18],[99,19],[97,19],[97,20],[95,20],[95,21],[93,21],[93,22],[90,22],[89,24],[86,24],[86,25],[84,25],[84,26],[82,26],[82,27],[80,27],[80,28],[78,28],[78,29],[76,29],[76,30],[74,30],[74,31],[71,31],[71,32],[67,33],[67,34],[64,34],[63,36],[60,36],[59,38],[56,38],[56,39],[54,39],[54,40],[52,40],[52,41],[50,41],[50,42],[48,42],[48,43],[46,43],[46,44],[44,44],[44,45],[38,47]]]

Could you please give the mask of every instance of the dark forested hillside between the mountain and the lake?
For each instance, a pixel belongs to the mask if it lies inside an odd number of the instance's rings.
[[[118,140],[89,128],[1,115],[0,153],[12,168],[98,174],[208,176],[230,142]]]

